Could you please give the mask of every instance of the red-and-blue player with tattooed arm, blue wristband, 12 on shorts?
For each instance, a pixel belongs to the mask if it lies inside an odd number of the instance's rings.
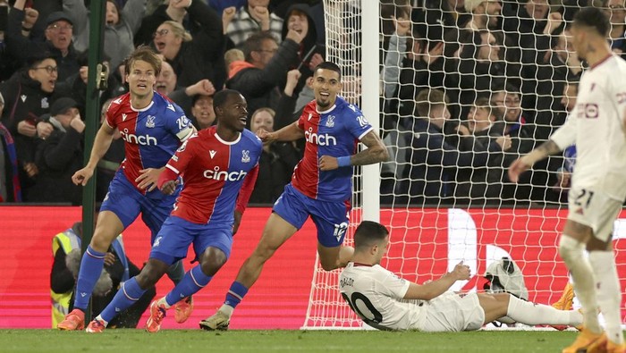
[[[317,253],[326,271],[346,265],[352,256],[354,249],[342,246],[351,209],[352,165],[382,162],[388,154],[359,108],[337,97],[342,88],[339,67],[320,63],[313,78],[315,100],[305,106],[298,122],[275,132],[258,132],[263,140],[306,139],[304,157],[276,201],[263,236],[241,266],[224,305],[200,322],[206,330],[228,327],[234,307],[257,281],[265,262],[309,215],[317,227]],[[368,149],[352,155],[359,139]]]

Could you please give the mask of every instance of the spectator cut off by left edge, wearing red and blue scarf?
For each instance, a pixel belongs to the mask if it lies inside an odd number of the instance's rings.
[[[4,99],[0,95],[0,116]],[[17,154],[11,132],[0,122],[0,202],[21,202]]]

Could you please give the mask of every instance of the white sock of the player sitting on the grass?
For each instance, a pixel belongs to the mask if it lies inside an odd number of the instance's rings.
[[[521,324],[582,324],[582,315],[575,310],[558,310],[510,296],[506,316]]]

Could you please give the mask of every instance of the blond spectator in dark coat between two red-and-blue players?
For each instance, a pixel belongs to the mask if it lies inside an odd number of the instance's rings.
[[[270,108],[259,108],[252,113],[250,130],[274,132],[275,112]],[[281,196],[284,186],[292,180],[293,168],[300,161],[300,154],[293,142],[266,141],[258,161],[258,178],[250,197],[253,204],[274,204]]]

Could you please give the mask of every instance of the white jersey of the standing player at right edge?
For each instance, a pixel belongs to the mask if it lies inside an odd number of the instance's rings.
[[[572,186],[626,198],[626,61],[610,55],[582,74],[576,106],[550,139],[576,145]]]

